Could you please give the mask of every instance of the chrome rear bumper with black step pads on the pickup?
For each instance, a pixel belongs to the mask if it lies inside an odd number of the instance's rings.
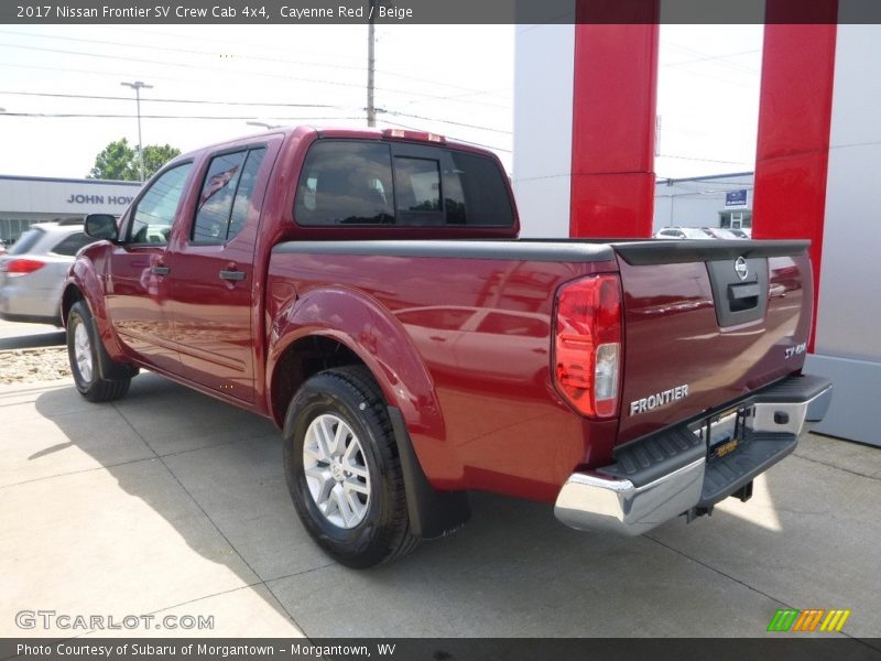
[[[819,377],[791,377],[748,397],[747,430],[730,455],[709,462],[707,441],[687,426],[624,446],[618,462],[573,473],[554,514],[577,530],[637,535],[730,496],[788,455],[798,437],[823,420],[833,387]]]

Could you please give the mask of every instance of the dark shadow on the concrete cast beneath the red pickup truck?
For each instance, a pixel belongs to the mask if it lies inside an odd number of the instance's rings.
[[[194,552],[183,564],[207,560],[242,585],[265,584],[267,603],[307,636],[760,636],[775,599],[844,603],[834,578],[818,581],[812,572],[812,582],[802,583],[809,567],[800,573],[800,546],[804,552],[811,542],[812,564],[822,564],[840,559],[841,545],[822,521],[805,523],[806,511],[817,517],[835,505],[814,511],[811,480],[804,472],[801,483],[790,475],[797,466],[783,473],[785,462],[758,501],[742,506],[753,508],[750,516],[717,509],[709,520],[672,521],[642,538],[575,532],[547,505],[475,494],[472,520],[456,534],[356,572],[334,563],[301,527],[282,473],[280,433],[268,421],[144,375],[126,400],[86,409],[112,408],[129,430],[119,443],[148,449],[124,460],[118,448],[94,442],[81,414],[56,414],[62,398],[69,391],[46,392],[37,410],[171,524]],[[851,532],[848,522],[831,534]],[[787,560],[769,561],[781,554]],[[869,563],[858,551],[848,559]],[[131,575],[120,581],[149,590],[174,579],[161,567],[143,573],[146,564],[131,557]],[[782,566],[795,574],[781,578]],[[205,594],[217,592],[205,586]],[[370,607],[340,618],[339,599]],[[877,606],[878,596],[867,593],[863,602]]]

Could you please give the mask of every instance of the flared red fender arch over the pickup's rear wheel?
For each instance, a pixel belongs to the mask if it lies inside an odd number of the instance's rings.
[[[270,325],[268,383],[291,345],[308,336],[340,343],[370,369],[385,401],[404,418],[413,447],[432,486],[455,488],[463,466],[446,442],[434,383],[403,325],[379,301],[342,286],[311,290],[289,301]]]

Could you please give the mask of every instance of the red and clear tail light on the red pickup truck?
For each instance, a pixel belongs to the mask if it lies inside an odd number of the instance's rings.
[[[621,281],[590,275],[557,292],[554,379],[583,415],[618,414],[621,371]]]

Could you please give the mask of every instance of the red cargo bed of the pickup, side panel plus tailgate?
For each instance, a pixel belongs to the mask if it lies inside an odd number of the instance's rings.
[[[805,241],[285,241],[272,251],[267,311],[269,318],[294,319],[303,334],[326,324],[327,333],[336,325],[339,337],[345,318],[352,346],[372,353],[362,358],[390,372],[392,383],[407,380],[395,372],[402,356],[413,356],[412,368],[426,370],[427,378],[423,391],[410,393],[423,403],[404,403],[404,414],[433,485],[520,496],[525,490],[550,500],[574,467],[607,465],[618,445],[796,373],[804,356],[787,350],[807,339],[806,247]],[[741,283],[733,270],[738,257],[752,269],[742,282],[749,285],[764,273],[771,295],[746,315],[754,318],[720,323],[728,288]],[[710,277],[713,264],[726,267],[718,278]],[[552,378],[555,293],[594,273],[619,273],[623,288],[620,422],[573,416]],[[682,386],[685,397],[663,394]],[[402,401],[392,389],[388,397]],[[639,409],[640,400],[653,397],[651,407],[631,414],[632,402]]]

